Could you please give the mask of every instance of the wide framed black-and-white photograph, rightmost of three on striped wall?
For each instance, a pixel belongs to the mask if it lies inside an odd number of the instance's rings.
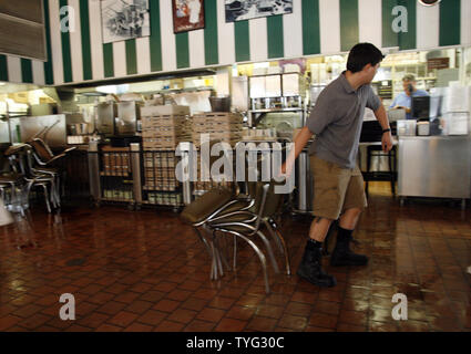
[[[293,0],[224,0],[226,22],[293,13]]]

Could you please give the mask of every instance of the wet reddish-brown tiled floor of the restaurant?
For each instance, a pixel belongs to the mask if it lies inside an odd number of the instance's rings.
[[[270,271],[270,295],[247,248],[237,273],[211,281],[206,250],[172,212],[35,208],[31,225],[0,228],[0,331],[471,331],[470,208],[400,207],[378,186],[356,231],[369,266],[327,267],[332,289]],[[284,220],[294,273],[308,227]],[[75,321],[59,317],[63,293]],[[391,317],[395,293],[408,321]]]

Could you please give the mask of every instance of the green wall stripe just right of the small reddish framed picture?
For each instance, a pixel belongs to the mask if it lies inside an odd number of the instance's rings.
[[[206,65],[219,63],[217,46],[217,3],[216,0],[204,2],[204,55]]]

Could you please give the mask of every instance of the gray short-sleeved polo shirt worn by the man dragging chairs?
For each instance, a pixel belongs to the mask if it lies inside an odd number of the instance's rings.
[[[309,154],[342,168],[355,168],[365,107],[377,111],[380,105],[370,85],[355,91],[342,72],[322,90],[306,122],[316,134]]]

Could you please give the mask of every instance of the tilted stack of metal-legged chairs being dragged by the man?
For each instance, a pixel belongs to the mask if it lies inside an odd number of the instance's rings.
[[[223,256],[219,240],[221,237],[232,236],[234,240],[233,269],[235,270],[237,266],[237,240],[243,240],[252,247],[259,258],[264,272],[265,290],[267,293],[270,292],[266,257],[254,242],[256,237],[259,237],[263,241],[276,273],[279,273],[279,268],[270,242],[262,231],[263,226],[267,228],[278,246],[284,257],[286,273],[290,274],[288,249],[276,222],[284,199],[284,195],[275,194],[276,184],[274,180],[267,183],[248,181],[245,183],[246,194],[213,188],[182,211],[181,219],[193,226],[209,253],[212,260],[209,277],[212,280],[224,275],[223,263],[231,268]]]

